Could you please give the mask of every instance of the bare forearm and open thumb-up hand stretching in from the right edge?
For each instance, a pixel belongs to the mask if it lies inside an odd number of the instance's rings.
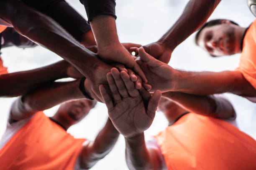
[[[190,72],[175,70],[139,49],[138,60],[152,89],[176,91],[196,95],[230,92],[236,95],[256,96],[254,87],[238,71]]]

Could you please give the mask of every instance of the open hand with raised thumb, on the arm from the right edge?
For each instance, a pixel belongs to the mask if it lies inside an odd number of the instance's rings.
[[[140,58],[136,60],[148,78],[151,90],[169,91],[173,87],[173,68],[164,62],[157,60],[145,52],[143,47],[138,49]]]

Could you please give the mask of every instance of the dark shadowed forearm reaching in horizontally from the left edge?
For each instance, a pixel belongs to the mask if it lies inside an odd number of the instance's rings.
[[[0,75],[0,96],[15,97],[23,95],[46,83],[68,77],[66,72],[68,66],[69,63],[62,60],[34,70]]]

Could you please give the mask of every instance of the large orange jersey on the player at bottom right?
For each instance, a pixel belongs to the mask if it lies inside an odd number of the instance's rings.
[[[155,138],[168,170],[256,170],[256,141],[224,120],[188,113]]]

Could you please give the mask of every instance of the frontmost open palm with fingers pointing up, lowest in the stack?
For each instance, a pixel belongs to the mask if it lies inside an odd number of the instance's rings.
[[[125,137],[133,137],[148,129],[154,120],[161,92],[151,94],[144,90],[136,90],[127,72],[119,72],[116,68],[107,74],[114,102],[105,87],[100,85],[100,93],[108,107],[108,115],[115,128]],[[144,101],[143,101],[144,100]]]

